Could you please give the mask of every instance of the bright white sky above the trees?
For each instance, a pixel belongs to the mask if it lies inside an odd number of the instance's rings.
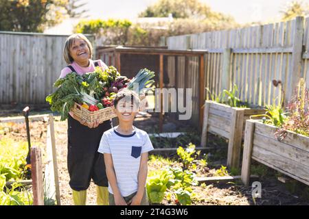
[[[157,0],[81,0],[88,2],[90,18],[136,18],[139,12]],[[238,23],[273,21],[288,0],[200,0],[212,10],[230,14]],[[303,0],[309,3],[309,0]]]

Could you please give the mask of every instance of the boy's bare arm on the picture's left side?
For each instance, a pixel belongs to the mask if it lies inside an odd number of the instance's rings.
[[[106,168],[106,176],[113,190],[115,204],[116,205],[127,205],[126,201],[124,201],[124,198],[122,197],[122,194],[120,193],[119,188],[117,186],[117,179],[116,179],[115,170],[113,166],[113,158],[111,157],[110,153],[104,153],[104,163],[105,163],[105,168]]]

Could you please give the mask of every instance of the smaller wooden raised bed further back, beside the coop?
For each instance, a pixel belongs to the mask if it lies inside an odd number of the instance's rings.
[[[207,131],[227,138],[229,140],[227,166],[238,168],[244,124],[250,116],[264,113],[265,110],[230,107],[214,101],[205,101],[201,146],[206,146]]]

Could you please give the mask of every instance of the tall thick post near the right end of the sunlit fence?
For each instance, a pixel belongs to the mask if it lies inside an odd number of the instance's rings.
[[[295,29],[293,29],[293,52],[292,52],[292,68],[288,73],[288,79],[286,81],[286,103],[293,96],[293,92],[297,87],[297,83],[301,78],[301,61],[302,61],[302,50],[303,50],[303,38],[304,38],[304,17],[297,16],[295,18]]]

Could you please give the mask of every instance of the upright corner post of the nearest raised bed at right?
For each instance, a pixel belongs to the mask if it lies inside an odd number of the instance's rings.
[[[247,120],[244,131],[244,152],[242,154],[242,183],[249,185],[249,176],[251,168],[251,155],[253,146],[253,133],[255,123],[253,120]]]

